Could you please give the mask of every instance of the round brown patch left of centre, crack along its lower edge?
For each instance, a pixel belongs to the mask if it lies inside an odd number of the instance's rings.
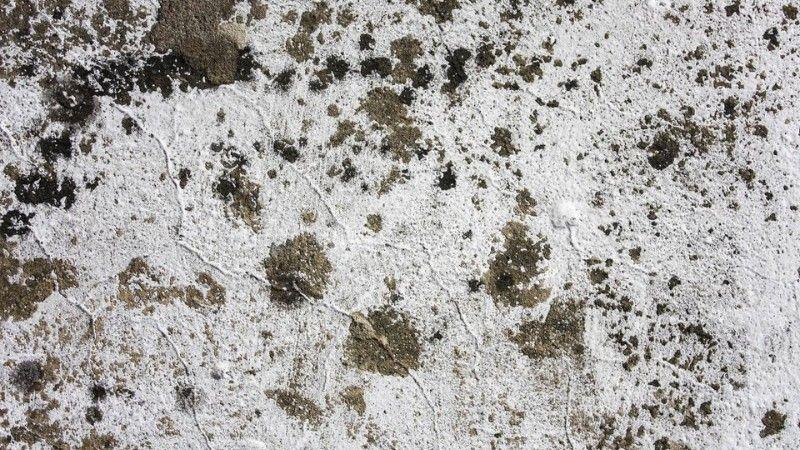
[[[273,245],[264,268],[270,282],[270,298],[289,306],[306,298],[321,299],[333,271],[324,248],[309,233]]]

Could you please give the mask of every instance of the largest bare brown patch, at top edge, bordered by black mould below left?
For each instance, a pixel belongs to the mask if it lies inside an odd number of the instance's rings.
[[[156,24],[148,35],[156,50],[174,52],[211,85],[249,77],[255,66],[245,51],[243,28],[223,22],[233,13],[233,0],[169,0],[161,2]]]

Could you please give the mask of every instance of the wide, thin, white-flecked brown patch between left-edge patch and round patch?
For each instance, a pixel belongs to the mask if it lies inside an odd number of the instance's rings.
[[[119,286],[117,297],[128,308],[182,301],[191,308],[218,307],[225,303],[225,288],[210,274],[201,272],[197,276],[197,286],[176,285],[173,278],[168,282],[159,271],[150,267],[144,258],[133,258],[128,266],[117,275]]]

